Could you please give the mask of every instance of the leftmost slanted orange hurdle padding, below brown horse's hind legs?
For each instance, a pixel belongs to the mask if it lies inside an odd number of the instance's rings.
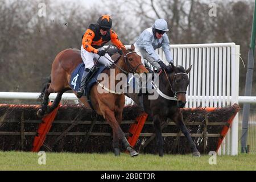
[[[49,102],[48,105],[52,105],[52,102]],[[32,152],[38,152],[42,147],[44,140],[46,140],[46,135],[52,127],[52,122],[56,117],[59,107],[60,104],[51,113],[43,117],[42,123],[40,123],[38,132],[36,133],[36,136],[34,138]]]

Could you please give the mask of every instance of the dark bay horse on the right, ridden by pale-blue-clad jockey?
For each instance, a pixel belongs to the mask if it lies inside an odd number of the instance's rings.
[[[144,95],[143,102],[139,102],[138,94],[128,93],[126,95],[137,105],[143,103],[144,111],[151,115],[154,122],[159,156],[163,156],[161,124],[166,118],[174,121],[185,137],[187,137],[193,156],[200,156],[200,152],[197,150],[187,127],[184,125],[183,115],[180,110],[186,104],[185,94],[189,84],[188,73],[191,71],[192,65],[187,70],[183,67],[175,67],[173,64],[168,68],[168,72],[162,71],[159,75],[158,92],[161,92],[161,94],[155,100],[149,100],[148,95]]]

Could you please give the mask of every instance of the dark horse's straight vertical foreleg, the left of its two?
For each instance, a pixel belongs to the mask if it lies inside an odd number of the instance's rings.
[[[155,134],[156,134],[156,144],[158,146],[159,156],[163,156],[163,137],[161,131],[161,121],[159,115],[153,116],[153,122],[155,127]]]

